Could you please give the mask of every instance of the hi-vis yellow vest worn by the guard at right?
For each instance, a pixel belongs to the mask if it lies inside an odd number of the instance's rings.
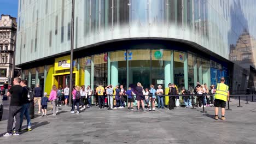
[[[218,83],[215,98],[226,101],[228,97],[229,86],[225,85],[224,83]]]

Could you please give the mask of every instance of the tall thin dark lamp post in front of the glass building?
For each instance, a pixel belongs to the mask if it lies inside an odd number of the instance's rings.
[[[72,0],[71,10],[71,50],[70,50],[70,76],[69,76],[69,106],[72,101],[72,76],[73,76],[73,50],[74,50],[74,0]]]

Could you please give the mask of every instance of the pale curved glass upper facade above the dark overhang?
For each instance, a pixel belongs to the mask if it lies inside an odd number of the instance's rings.
[[[157,37],[193,42],[228,59],[230,45],[243,31],[255,31],[255,19],[250,19],[253,4],[253,0],[77,0],[75,49],[107,40]],[[19,6],[17,64],[69,50],[71,0],[20,0]],[[250,57],[255,56],[241,56]]]

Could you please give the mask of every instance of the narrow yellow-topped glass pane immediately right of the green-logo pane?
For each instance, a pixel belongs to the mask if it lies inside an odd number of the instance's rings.
[[[184,87],[184,53],[174,51],[174,84],[178,87],[180,92],[182,87]]]

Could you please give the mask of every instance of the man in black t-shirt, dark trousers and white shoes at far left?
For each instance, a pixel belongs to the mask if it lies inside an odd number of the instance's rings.
[[[27,97],[27,95],[24,93],[24,88],[20,86],[20,81],[21,81],[20,77],[14,78],[13,80],[14,86],[12,86],[7,92],[7,97],[11,97],[11,100],[9,105],[7,133],[5,133],[3,136],[20,135],[19,128],[20,128],[20,113],[23,105],[22,98]],[[15,131],[12,133],[14,117],[16,119],[16,123],[15,123]]]

